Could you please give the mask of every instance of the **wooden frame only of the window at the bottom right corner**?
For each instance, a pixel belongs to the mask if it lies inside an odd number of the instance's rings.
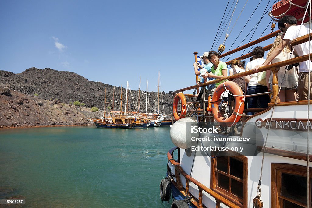
[[[280,195],[281,188],[281,174],[291,174],[297,176],[307,177],[307,167],[288,163],[271,163],[271,207],[280,208],[283,206],[283,200],[290,201],[294,204],[307,207],[291,198]],[[311,206],[311,180],[312,168],[309,168],[309,199]]]

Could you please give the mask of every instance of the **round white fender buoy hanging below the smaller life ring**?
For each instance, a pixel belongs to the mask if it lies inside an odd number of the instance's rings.
[[[189,117],[177,120],[170,128],[172,143],[178,148],[187,149],[192,146],[192,137],[198,137],[198,133],[191,133],[191,126],[197,126],[197,122]],[[197,131],[198,132],[198,131]]]

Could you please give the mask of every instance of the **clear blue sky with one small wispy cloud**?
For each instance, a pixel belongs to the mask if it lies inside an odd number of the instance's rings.
[[[227,2],[2,0],[0,70],[21,73],[31,67],[52,68],[115,86],[125,86],[129,80],[131,89],[138,89],[141,76],[143,89],[149,80],[149,91],[157,91],[159,70],[162,91],[181,89],[195,84],[193,52],[210,51]],[[269,2],[267,10],[274,2]],[[245,3],[237,3],[228,33]],[[267,3],[259,5],[242,30],[258,4],[247,2],[227,39],[226,51],[243,31],[232,48],[241,43]],[[217,47],[224,40],[235,4],[236,0],[230,0]],[[271,25],[265,30],[271,22],[267,13],[251,40],[263,31],[270,33]]]

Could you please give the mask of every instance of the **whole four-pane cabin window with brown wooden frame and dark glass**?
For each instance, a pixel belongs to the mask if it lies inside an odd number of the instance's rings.
[[[211,189],[238,206],[247,207],[247,157],[221,156],[211,162]]]

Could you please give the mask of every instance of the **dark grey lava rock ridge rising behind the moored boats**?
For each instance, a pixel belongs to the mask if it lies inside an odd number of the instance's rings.
[[[32,67],[20,74],[14,74],[9,71],[0,70],[0,84],[8,85],[11,90],[36,96],[38,99],[58,100],[61,103],[71,104],[75,101],[84,103],[85,107],[102,108],[104,103],[105,88],[107,91],[106,100],[109,102],[109,96],[112,94],[113,86],[103,84],[102,82],[94,82],[84,77],[68,71],[57,71],[50,68],[37,69]],[[115,87],[117,97],[120,98],[121,89]],[[123,92],[126,89],[123,88]],[[143,94],[146,93],[141,91]],[[137,99],[138,90],[132,90],[134,99]],[[140,109],[145,109],[145,97],[141,94]],[[144,94],[145,95],[145,94]],[[124,96],[124,95],[123,95]],[[116,96],[115,96],[116,97]],[[160,94],[160,101],[163,98],[164,112],[170,114],[172,108],[172,94]],[[149,92],[150,111],[155,107],[155,101],[158,99],[158,93]],[[124,100],[123,100],[124,102]],[[162,102],[160,108],[162,109]],[[134,104],[130,104],[129,110],[134,110]]]

